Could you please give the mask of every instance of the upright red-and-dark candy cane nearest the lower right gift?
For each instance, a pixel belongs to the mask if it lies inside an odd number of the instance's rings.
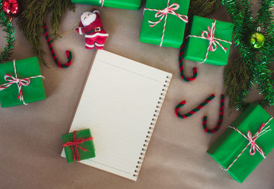
[[[225,95],[221,95],[221,100],[220,100],[220,113],[219,113],[219,121],[216,125],[216,127],[214,127],[214,129],[208,129],[208,126],[206,126],[206,123],[208,121],[208,117],[207,116],[203,116],[203,129],[209,133],[215,133],[216,131],[218,131],[223,123],[223,113],[224,113],[224,108],[225,108]]]

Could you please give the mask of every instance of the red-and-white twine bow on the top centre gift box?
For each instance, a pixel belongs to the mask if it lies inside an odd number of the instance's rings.
[[[149,25],[150,27],[154,27],[155,25],[157,25],[164,19],[164,29],[162,32],[162,39],[161,39],[160,47],[162,47],[162,43],[164,41],[164,32],[166,30],[166,18],[169,14],[173,14],[173,15],[177,16],[178,18],[180,18],[185,23],[188,23],[188,16],[182,15],[182,14],[177,14],[177,12],[175,12],[175,10],[179,9],[179,4],[173,3],[172,5],[169,5],[169,1],[170,0],[168,0],[166,8],[164,8],[163,10],[150,9],[150,8],[144,9],[144,10],[149,10],[149,11],[156,11],[155,18],[160,18],[159,21],[155,21],[155,22],[149,21],[149,23],[151,24],[151,25]]]

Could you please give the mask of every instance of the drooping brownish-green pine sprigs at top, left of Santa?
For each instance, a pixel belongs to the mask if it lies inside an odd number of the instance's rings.
[[[59,36],[58,25],[67,8],[75,10],[71,0],[21,0],[23,12],[18,19],[18,27],[23,30],[25,38],[32,45],[34,54],[45,64],[41,49],[40,34],[43,34],[43,21],[50,13],[49,21],[55,38]],[[46,64],[45,64],[46,65]]]

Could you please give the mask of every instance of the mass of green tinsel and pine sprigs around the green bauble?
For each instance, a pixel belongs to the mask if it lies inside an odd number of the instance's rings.
[[[237,110],[247,107],[247,95],[252,86],[262,94],[259,103],[263,107],[274,105],[274,80],[271,62],[274,58],[274,23],[272,10],[274,1],[262,0],[256,18],[251,12],[249,0],[221,0],[234,23],[234,45],[238,57],[225,68],[224,82],[230,98],[229,107]],[[251,49],[248,36],[256,32],[265,36],[264,47]]]

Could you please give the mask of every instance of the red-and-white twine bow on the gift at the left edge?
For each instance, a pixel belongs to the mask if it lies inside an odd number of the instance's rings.
[[[9,88],[10,86],[12,86],[12,84],[16,84],[18,86],[17,99],[20,99],[20,101],[23,101],[24,105],[27,105],[27,103],[25,103],[25,101],[24,101],[24,97],[23,97],[23,93],[22,93],[22,86],[28,86],[30,84],[30,79],[34,79],[37,77],[42,77],[42,78],[44,78],[44,77],[42,75],[37,75],[34,77],[26,77],[24,79],[18,79],[17,72],[16,72],[16,66],[15,66],[15,60],[13,60],[13,66],[14,66],[15,77],[13,77],[10,74],[6,74],[4,76],[4,79],[5,79],[5,81],[8,81],[8,83],[0,85],[0,91],[5,90],[6,88]]]

